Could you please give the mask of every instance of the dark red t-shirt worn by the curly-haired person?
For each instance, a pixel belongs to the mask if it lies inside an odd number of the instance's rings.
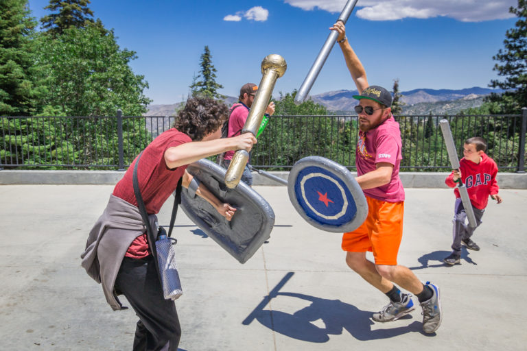
[[[139,181],[139,189],[141,189],[146,212],[149,215],[159,213],[161,206],[172,195],[179,179],[187,168],[187,165],[185,165],[169,169],[165,163],[165,151],[169,147],[176,147],[191,141],[187,134],[172,128],[155,138],[143,151],[141,161],[137,167],[137,180]],[[124,199],[124,201],[134,206],[137,206],[137,200],[135,199],[132,179],[136,160],[137,158],[128,167],[124,177],[119,180],[113,189],[114,196]],[[143,234],[132,242],[125,256],[143,258],[149,254],[150,250],[148,249],[146,234]]]

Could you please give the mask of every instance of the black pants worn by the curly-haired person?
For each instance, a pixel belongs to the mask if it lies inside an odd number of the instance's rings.
[[[177,351],[181,337],[176,305],[163,298],[156,264],[152,255],[125,257],[115,289],[123,293],[139,317],[135,330],[134,351]]]

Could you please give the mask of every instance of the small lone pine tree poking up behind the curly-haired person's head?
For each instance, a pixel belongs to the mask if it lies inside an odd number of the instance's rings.
[[[212,55],[209,47],[205,45],[204,53],[200,57],[200,74],[194,77],[192,84],[189,86],[191,96],[206,96],[218,99],[224,99],[225,96],[218,93],[218,89],[223,88],[222,85],[216,83],[217,70],[212,64]]]

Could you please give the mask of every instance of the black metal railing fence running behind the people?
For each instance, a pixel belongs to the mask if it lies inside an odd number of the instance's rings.
[[[395,116],[403,142],[401,171],[450,169],[438,121],[447,119],[459,150],[471,136],[487,140],[500,171],[525,171],[527,108],[511,115]],[[0,117],[0,169],[124,170],[174,117]],[[274,116],[251,152],[253,167],[290,169],[324,156],[354,169],[356,115]],[[462,156],[462,153],[459,153]]]

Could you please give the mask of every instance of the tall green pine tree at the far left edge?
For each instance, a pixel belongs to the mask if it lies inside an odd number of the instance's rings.
[[[34,27],[27,0],[0,1],[0,115],[32,113]]]

